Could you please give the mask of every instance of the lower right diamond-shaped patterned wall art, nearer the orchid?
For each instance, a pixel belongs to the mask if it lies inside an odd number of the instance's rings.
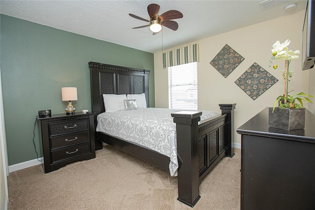
[[[276,82],[278,82],[276,77],[254,63],[235,81],[235,84],[255,100]]]

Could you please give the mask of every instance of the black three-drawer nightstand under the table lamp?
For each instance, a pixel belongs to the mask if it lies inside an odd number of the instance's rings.
[[[95,158],[94,113],[52,114],[38,122],[45,173]]]

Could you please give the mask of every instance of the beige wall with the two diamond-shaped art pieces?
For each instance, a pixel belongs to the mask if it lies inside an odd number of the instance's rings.
[[[277,62],[279,65],[277,70],[269,67],[272,45],[277,40],[284,42],[286,39],[290,39],[289,49],[301,51],[304,14],[305,11],[298,11],[277,19],[183,45],[187,46],[193,43],[199,45],[198,109],[221,112],[220,103],[236,103],[235,129],[237,129],[265,107],[273,106],[276,98],[284,93],[284,79],[282,77],[284,61]],[[210,64],[225,44],[228,44],[245,58],[226,78]],[[167,51],[164,50],[164,52]],[[162,67],[161,54],[162,52],[154,54],[155,103],[156,107],[168,108],[168,75],[167,69]],[[279,79],[275,85],[256,100],[252,100],[234,83],[254,62]],[[301,57],[290,64],[295,75],[290,79],[289,90],[308,93],[309,70],[302,71],[301,65]],[[241,142],[241,136],[236,131],[235,142]]]

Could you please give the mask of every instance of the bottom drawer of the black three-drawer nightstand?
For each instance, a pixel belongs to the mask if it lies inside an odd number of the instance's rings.
[[[66,159],[71,159],[84,154],[91,153],[91,145],[89,143],[80,144],[77,146],[70,146],[61,150],[52,152],[52,164],[64,161]]]

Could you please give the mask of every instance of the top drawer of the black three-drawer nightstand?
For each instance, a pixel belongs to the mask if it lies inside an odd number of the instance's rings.
[[[89,130],[89,120],[65,121],[49,125],[50,136]]]

